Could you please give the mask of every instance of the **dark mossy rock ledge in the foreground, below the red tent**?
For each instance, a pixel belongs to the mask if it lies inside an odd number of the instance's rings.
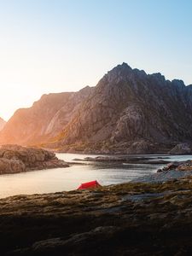
[[[0,200],[2,255],[191,255],[192,178]]]

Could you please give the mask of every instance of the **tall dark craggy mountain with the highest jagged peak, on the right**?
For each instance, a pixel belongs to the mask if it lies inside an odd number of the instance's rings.
[[[191,139],[192,86],[123,63],[99,81],[61,132],[57,147],[75,143],[88,151],[139,154]]]

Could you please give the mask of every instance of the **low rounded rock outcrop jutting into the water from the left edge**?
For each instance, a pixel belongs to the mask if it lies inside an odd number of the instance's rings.
[[[54,153],[42,148],[4,145],[0,148],[0,174],[68,167]]]

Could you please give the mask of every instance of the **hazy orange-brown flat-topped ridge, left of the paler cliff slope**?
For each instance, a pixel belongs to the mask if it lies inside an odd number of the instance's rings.
[[[44,95],[32,108],[20,108],[1,132],[1,143],[37,143],[44,137],[50,119],[63,106],[71,93]]]

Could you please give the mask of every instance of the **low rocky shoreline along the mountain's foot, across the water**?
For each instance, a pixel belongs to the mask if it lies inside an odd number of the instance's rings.
[[[41,144],[41,147],[51,148],[55,153],[72,154],[103,154],[103,155],[132,155],[132,154],[168,154],[181,155],[192,154],[191,143],[148,143],[145,141],[116,143],[107,145],[105,143],[75,143],[69,145]]]

